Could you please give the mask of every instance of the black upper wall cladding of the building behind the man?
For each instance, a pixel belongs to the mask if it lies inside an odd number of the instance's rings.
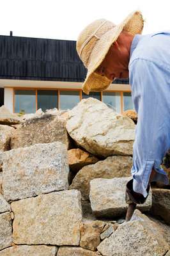
[[[0,36],[0,79],[82,82],[85,77],[75,41]]]

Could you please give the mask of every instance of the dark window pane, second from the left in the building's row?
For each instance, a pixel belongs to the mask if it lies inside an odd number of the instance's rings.
[[[38,90],[37,92],[38,109],[58,108],[58,91],[57,90]]]

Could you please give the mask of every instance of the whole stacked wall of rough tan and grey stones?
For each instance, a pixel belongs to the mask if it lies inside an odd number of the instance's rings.
[[[64,114],[38,111],[0,130],[0,256],[168,255],[170,228],[141,213],[162,198],[169,220],[167,189],[120,220],[134,122],[92,98]]]

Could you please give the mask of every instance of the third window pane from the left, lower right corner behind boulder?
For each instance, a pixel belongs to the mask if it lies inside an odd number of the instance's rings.
[[[72,109],[80,101],[80,93],[77,91],[60,91],[59,108]]]

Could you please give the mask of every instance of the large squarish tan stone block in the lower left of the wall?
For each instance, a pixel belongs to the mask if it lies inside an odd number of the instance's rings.
[[[81,193],[52,192],[11,204],[15,244],[79,245]]]

